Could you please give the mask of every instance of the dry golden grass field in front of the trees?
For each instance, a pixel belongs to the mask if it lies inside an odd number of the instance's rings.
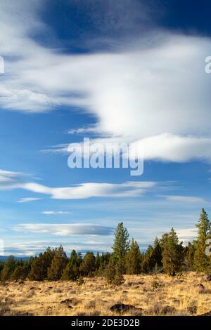
[[[0,284],[1,315],[120,315],[116,303],[134,305],[124,315],[200,315],[211,310],[211,282],[194,272],[125,276],[121,286],[103,277],[75,282]]]

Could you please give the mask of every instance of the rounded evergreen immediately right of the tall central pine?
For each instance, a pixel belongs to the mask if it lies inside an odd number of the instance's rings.
[[[134,275],[141,272],[141,252],[139,244],[133,238],[126,256],[126,267],[127,274]]]

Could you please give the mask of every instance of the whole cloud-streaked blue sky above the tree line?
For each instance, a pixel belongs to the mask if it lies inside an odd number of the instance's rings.
[[[30,2],[30,4],[29,4]],[[0,235],[5,253],[145,249],[210,212],[209,1],[2,0]],[[129,169],[70,169],[83,138],[133,143]]]

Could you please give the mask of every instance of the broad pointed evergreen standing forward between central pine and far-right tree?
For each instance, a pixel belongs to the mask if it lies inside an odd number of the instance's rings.
[[[165,239],[162,251],[162,264],[163,269],[168,275],[176,275],[177,272],[181,272],[184,264],[184,249],[182,242],[179,243],[174,228],[170,230],[170,233]]]

